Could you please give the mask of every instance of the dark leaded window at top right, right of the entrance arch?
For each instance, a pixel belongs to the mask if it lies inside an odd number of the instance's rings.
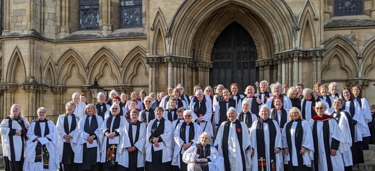
[[[361,0],[335,0],[335,16],[361,15]]]

